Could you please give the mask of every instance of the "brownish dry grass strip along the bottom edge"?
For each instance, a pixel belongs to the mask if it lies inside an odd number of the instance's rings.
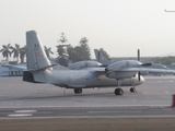
[[[175,118],[1,119],[0,131],[174,131]]]

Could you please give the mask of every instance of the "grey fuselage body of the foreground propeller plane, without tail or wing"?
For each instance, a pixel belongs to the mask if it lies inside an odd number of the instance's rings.
[[[62,86],[67,88],[86,88],[86,87],[106,87],[106,86],[117,86],[116,79],[108,79],[105,74],[98,74],[93,70],[67,70],[67,71],[56,71],[56,70],[45,70],[42,72],[34,72],[34,80],[36,82],[50,83],[57,86]],[[121,86],[132,86],[140,85],[144,82],[141,76],[139,81],[138,78],[124,79]]]

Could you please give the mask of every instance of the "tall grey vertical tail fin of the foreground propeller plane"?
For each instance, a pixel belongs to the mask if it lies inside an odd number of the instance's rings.
[[[39,37],[35,31],[26,32],[27,69],[40,69],[51,66]]]

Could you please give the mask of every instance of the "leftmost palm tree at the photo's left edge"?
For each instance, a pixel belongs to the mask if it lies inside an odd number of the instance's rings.
[[[0,50],[0,52],[2,52],[3,57],[7,58],[7,60],[9,61],[9,57],[11,57],[11,51],[10,51],[10,44],[2,45],[2,49]]]

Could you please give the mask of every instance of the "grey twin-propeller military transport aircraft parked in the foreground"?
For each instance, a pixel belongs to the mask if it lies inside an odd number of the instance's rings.
[[[140,85],[144,79],[140,71],[168,72],[173,70],[145,69],[137,60],[121,60],[106,68],[84,68],[70,70],[59,64],[51,64],[47,59],[44,47],[35,31],[26,32],[27,70],[24,71],[23,81],[32,83],[49,83],[56,86],[73,88],[75,94],[81,94],[82,88],[118,86],[116,95],[122,95],[120,86]],[[57,66],[57,70],[54,67]]]

